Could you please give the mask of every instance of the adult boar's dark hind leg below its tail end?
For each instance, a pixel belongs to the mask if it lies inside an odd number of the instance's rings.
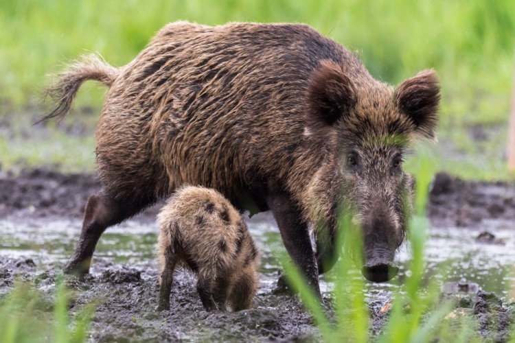
[[[109,226],[123,222],[128,217],[132,217],[153,202],[155,200],[137,202],[116,200],[104,191],[89,197],[84,211],[80,238],[75,252],[65,265],[65,273],[87,274],[93,251],[95,251],[95,246],[104,230]]]

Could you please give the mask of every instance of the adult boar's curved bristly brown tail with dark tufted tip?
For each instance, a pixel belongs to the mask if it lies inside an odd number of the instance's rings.
[[[121,70],[112,67],[98,54],[81,56],[69,64],[65,71],[56,75],[56,82],[46,88],[45,96],[52,99],[57,107],[37,123],[49,118],[64,118],[84,81],[95,80],[111,87]]]

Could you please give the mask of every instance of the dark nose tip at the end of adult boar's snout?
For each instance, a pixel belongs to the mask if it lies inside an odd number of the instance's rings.
[[[399,268],[393,264],[395,252],[389,248],[373,248],[365,254],[361,273],[372,282],[385,282],[397,275]]]

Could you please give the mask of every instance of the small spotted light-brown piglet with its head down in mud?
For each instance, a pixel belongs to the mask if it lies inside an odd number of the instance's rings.
[[[242,216],[214,189],[181,187],[157,216],[159,308],[170,308],[174,270],[191,270],[207,311],[251,306],[259,255]]]

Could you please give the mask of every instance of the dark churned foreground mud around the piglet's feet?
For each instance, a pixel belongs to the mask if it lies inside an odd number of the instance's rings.
[[[14,279],[32,283],[52,303],[60,263],[36,265],[32,259],[0,255],[0,294]],[[195,279],[179,273],[174,278],[171,311],[156,310],[159,287],[155,265],[130,268],[95,259],[92,274],[67,277],[70,311],[98,304],[90,328],[95,342],[174,342],[179,340],[255,342],[317,341],[319,333],[295,296],[260,292],[252,309],[236,313],[208,313],[196,294]],[[51,310],[51,306],[49,306]]]

